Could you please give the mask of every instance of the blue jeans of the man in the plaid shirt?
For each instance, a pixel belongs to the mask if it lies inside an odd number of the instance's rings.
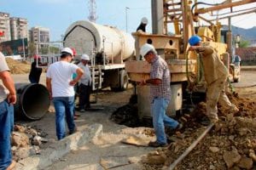
[[[159,144],[166,144],[165,126],[176,128],[178,122],[171,117],[166,116],[166,108],[169,104],[168,99],[154,98],[151,105],[151,114],[153,117],[154,133],[156,135],[156,142]]]

